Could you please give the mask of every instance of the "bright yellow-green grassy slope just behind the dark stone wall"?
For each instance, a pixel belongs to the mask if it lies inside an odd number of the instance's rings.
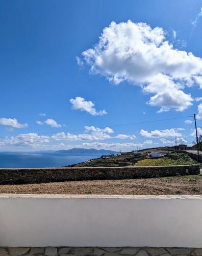
[[[162,158],[140,160],[136,166],[185,165],[194,163],[197,163],[197,161],[191,159],[187,154],[173,153]]]

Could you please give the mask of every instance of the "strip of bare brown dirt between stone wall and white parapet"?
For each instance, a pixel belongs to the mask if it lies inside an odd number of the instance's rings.
[[[0,185],[0,193],[104,194],[104,195],[202,195],[202,177],[189,175],[152,179],[67,181]]]

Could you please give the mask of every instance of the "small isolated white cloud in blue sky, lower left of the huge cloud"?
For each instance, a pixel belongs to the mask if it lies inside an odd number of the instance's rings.
[[[75,97],[75,99],[70,99],[70,103],[72,104],[72,109],[86,111],[92,116],[102,116],[107,114],[105,110],[97,111],[94,108],[94,103],[92,101],[87,101],[82,97]]]

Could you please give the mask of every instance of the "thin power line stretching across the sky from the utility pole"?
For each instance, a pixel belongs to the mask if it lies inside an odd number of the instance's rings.
[[[151,122],[161,122],[161,121],[168,121],[168,120],[175,120],[175,119],[182,119],[182,118],[188,118],[193,117],[191,116],[182,116],[182,117],[173,117],[173,118],[166,118],[166,119],[157,119],[157,120],[148,120],[148,121],[141,121],[141,122],[135,122],[135,123],[122,123],[122,124],[113,124],[113,125],[105,125],[99,127],[99,129],[105,129],[106,127],[118,127],[118,126],[127,126],[127,125],[135,125],[135,124],[142,124],[142,123],[151,123]],[[84,131],[85,128],[82,129],[75,129],[75,130],[68,130],[68,131],[60,131],[60,132],[50,132],[50,133],[41,133],[39,135],[47,135],[47,134],[57,134],[57,133],[68,133],[68,132],[78,132],[78,131]],[[11,136],[10,136],[11,137]],[[8,138],[8,136],[0,137],[2,138]]]

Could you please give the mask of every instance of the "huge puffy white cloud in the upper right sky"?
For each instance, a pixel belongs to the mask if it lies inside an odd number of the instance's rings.
[[[159,106],[159,112],[184,111],[192,105],[185,86],[201,85],[202,60],[192,53],[173,49],[165,39],[166,32],[145,23],[116,24],[104,28],[98,43],[82,53],[91,72],[139,85],[153,94],[148,104]]]

